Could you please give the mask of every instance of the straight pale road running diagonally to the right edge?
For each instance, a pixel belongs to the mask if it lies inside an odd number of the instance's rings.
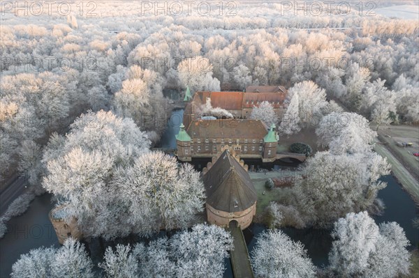
[[[391,171],[399,180],[399,183],[402,183],[404,189],[412,196],[413,201],[419,203],[419,183],[416,178],[414,178],[409,171],[402,165],[402,163],[397,160],[397,158],[390,153],[390,151],[385,148],[380,141],[376,141],[374,144],[374,150],[381,156],[387,157],[388,163],[391,164]]]

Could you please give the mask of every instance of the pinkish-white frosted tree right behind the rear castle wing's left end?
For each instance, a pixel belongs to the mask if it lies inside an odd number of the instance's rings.
[[[180,84],[189,86],[191,93],[196,91],[220,91],[220,82],[212,77],[212,64],[203,56],[184,59],[177,65]]]

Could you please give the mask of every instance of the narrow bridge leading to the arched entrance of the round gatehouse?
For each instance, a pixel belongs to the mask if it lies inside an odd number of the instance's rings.
[[[237,221],[231,221],[227,231],[230,231],[233,237],[234,250],[230,251],[230,261],[234,277],[253,278],[246,241]]]

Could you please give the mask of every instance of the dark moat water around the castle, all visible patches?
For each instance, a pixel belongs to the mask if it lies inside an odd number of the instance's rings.
[[[161,139],[161,147],[163,148],[175,148],[176,140],[175,134],[179,132],[179,124],[182,122],[183,110],[176,110],[172,112],[172,117],[168,122],[168,128]],[[194,162],[194,166],[198,168],[205,167],[206,162],[209,160],[197,160]],[[247,161],[247,164],[261,166],[260,162]],[[294,167],[293,164],[287,163],[276,163],[268,166],[267,168],[284,168]],[[265,167],[265,166],[264,166]],[[397,222],[404,229],[406,237],[411,242],[409,249],[418,247],[419,245],[419,233],[418,229],[412,225],[412,219],[418,217],[418,208],[413,202],[409,194],[404,192],[400,185],[397,183],[395,178],[392,176],[385,176],[382,178],[388,183],[385,189],[378,193],[378,198],[383,199],[385,203],[385,210],[383,215],[376,216],[374,219],[376,223],[381,222]],[[47,213],[53,207],[50,203],[50,194],[37,197],[32,203],[24,215],[10,219],[8,226],[10,227],[10,233],[6,233],[4,238],[0,240],[0,277],[9,277],[12,269],[12,265],[20,257],[20,254],[25,254],[31,249],[38,248],[41,246],[59,246],[57,236],[54,233],[52,224],[48,219]],[[253,249],[257,235],[266,229],[261,224],[252,224],[249,229],[244,231],[244,236],[248,243],[249,252]],[[284,233],[289,235],[292,240],[298,240],[304,244],[307,249],[309,257],[315,265],[327,265],[328,264],[328,252],[330,251],[332,238],[330,237],[330,230],[320,229],[283,229]],[[95,245],[92,242],[91,245]],[[92,247],[90,245],[90,247]],[[96,242],[96,245],[97,242]],[[98,249],[92,248],[92,249]],[[102,251],[103,252],[103,251]],[[94,252],[96,253],[96,252]],[[101,256],[95,254],[97,259]],[[95,262],[97,262],[95,260]],[[226,273],[224,277],[232,277],[232,270],[230,266],[230,260],[226,259]]]

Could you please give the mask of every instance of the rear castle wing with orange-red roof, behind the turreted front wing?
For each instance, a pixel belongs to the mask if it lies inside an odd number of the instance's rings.
[[[184,126],[188,128],[191,121],[205,116],[200,113],[200,107],[203,107],[207,100],[211,101],[212,107],[229,111],[233,114],[233,118],[249,118],[253,106],[257,107],[263,101],[270,102],[279,118],[286,113],[287,106],[284,101],[288,91],[283,86],[249,86],[248,88],[252,92],[200,91],[193,95],[191,101],[189,101],[191,97],[186,97],[185,94]]]

